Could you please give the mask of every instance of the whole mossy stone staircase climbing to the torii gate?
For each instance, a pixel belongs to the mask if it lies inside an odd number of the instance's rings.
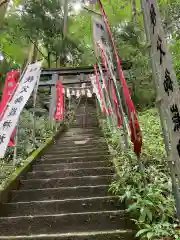
[[[114,170],[95,109],[86,110],[86,123],[82,105],[72,127],[2,205],[0,240],[134,239],[123,205],[108,193]]]

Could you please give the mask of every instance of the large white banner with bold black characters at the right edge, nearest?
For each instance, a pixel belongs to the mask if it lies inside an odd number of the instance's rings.
[[[172,59],[168,50],[165,33],[155,0],[143,2],[147,34],[151,40],[152,63],[156,73],[158,99],[168,120],[171,142],[170,159],[175,163],[180,179],[180,91]]]

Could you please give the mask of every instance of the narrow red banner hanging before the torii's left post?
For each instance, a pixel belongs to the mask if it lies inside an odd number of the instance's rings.
[[[54,114],[55,120],[61,120],[64,118],[64,97],[63,97],[63,85],[60,80],[56,83],[56,111]]]

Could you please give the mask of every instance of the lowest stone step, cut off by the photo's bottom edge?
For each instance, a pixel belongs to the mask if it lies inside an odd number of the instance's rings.
[[[75,232],[67,234],[40,234],[30,236],[2,236],[1,240],[132,240],[135,238],[133,230],[112,230]]]

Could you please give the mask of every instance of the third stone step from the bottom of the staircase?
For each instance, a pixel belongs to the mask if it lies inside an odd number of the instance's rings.
[[[62,213],[78,213],[92,211],[108,211],[124,209],[116,197],[94,197],[82,199],[48,200],[3,204],[1,216],[17,217],[32,215],[48,215]]]

